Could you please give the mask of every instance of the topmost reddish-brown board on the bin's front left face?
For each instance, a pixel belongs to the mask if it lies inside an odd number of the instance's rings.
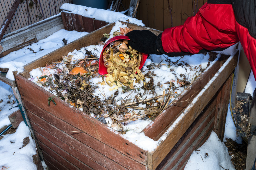
[[[126,156],[146,165],[147,153],[135,144],[124,139],[120,134],[113,133],[107,125],[102,124],[90,115],[84,115],[79,109],[71,108],[69,104],[57,97],[54,98],[57,105],[51,105],[49,107],[47,99],[52,97],[53,94],[45,91],[43,88],[20,75],[16,75],[16,83],[19,84],[18,88],[22,98],[75,126],[77,129],[84,131],[108,146],[115,148],[117,151],[124,153]],[[27,107],[28,106],[26,106],[26,108]],[[65,110],[65,112],[63,112],[63,110]],[[113,139],[115,139],[115,143],[113,143]]]

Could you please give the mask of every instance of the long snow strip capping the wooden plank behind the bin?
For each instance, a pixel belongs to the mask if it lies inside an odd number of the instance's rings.
[[[82,5],[75,4],[62,4],[60,9],[70,11],[73,14],[82,15],[88,18],[95,18],[97,20],[106,21],[106,22],[114,22],[116,20],[126,21],[129,19],[129,22],[138,24],[141,26],[145,26],[141,20],[136,18],[128,17],[120,12],[108,11],[103,9],[91,8]]]

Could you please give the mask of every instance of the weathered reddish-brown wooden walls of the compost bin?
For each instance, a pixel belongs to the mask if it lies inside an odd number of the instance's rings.
[[[126,24],[132,29],[160,33],[148,27]],[[25,65],[22,73],[14,72],[45,163],[50,169],[183,169],[190,154],[205,142],[212,130],[223,138],[232,72],[238,53],[234,57],[222,55],[175,99],[171,107],[143,130],[154,140],[164,133],[166,135],[152,152],[129,142],[119,132],[70,107],[58,97],[54,97],[56,106],[48,106],[47,99],[53,94],[27,79],[32,69],[44,67],[46,62],[55,62],[74,49],[97,44],[114,25],[110,23]],[[173,122],[176,125],[171,129]]]

